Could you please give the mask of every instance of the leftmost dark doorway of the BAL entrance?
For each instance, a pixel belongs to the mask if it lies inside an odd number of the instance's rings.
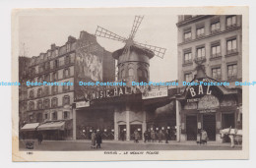
[[[187,140],[197,140],[197,116],[186,116]]]

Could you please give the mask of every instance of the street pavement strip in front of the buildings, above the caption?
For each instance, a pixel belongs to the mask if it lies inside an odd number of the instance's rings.
[[[26,148],[27,141],[34,141],[33,149]],[[91,148],[90,140],[43,140],[38,145],[37,140],[20,140],[20,150],[26,151],[83,151],[83,150],[241,150],[241,145],[230,147],[230,143],[217,143],[209,141],[208,144],[196,144],[195,141],[177,142],[174,140],[169,143],[162,142],[143,142],[135,143],[120,140],[103,140],[101,148]]]

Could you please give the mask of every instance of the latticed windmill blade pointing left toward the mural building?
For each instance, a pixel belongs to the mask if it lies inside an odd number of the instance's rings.
[[[96,28],[96,34],[95,35],[100,36],[100,37],[104,37],[104,38],[108,38],[108,39],[122,41],[122,42],[126,41],[125,37],[117,35],[116,33],[112,32],[110,30],[107,30],[105,28],[101,28],[101,27],[98,27],[98,26]]]

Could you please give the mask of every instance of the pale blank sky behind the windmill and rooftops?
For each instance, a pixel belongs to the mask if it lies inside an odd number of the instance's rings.
[[[69,35],[79,38],[80,31],[95,34],[96,26],[106,28],[120,36],[128,37],[135,15],[87,14],[72,11],[65,15],[25,15],[19,17],[18,33],[20,55],[26,50],[29,57],[46,52],[52,43],[64,45]],[[163,59],[154,57],[150,62],[152,82],[177,80],[177,16],[145,15],[134,40],[166,48]],[[120,41],[96,37],[97,42],[106,50],[113,52],[124,46]],[[23,45],[25,44],[25,47]],[[26,48],[26,49],[24,49]]]

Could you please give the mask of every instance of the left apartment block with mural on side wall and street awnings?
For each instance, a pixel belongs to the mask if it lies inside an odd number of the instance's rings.
[[[91,48],[90,59],[81,61],[85,57],[81,55],[82,46]],[[52,44],[45,53],[32,57],[28,83],[33,85],[28,86],[27,123],[38,123],[35,130],[46,140],[72,139],[72,104],[81,92],[76,87],[88,79],[112,80],[111,74],[114,78],[114,60],[96,42],[95,35],[81,31],[78,39],[69,36],[63,46]]]

